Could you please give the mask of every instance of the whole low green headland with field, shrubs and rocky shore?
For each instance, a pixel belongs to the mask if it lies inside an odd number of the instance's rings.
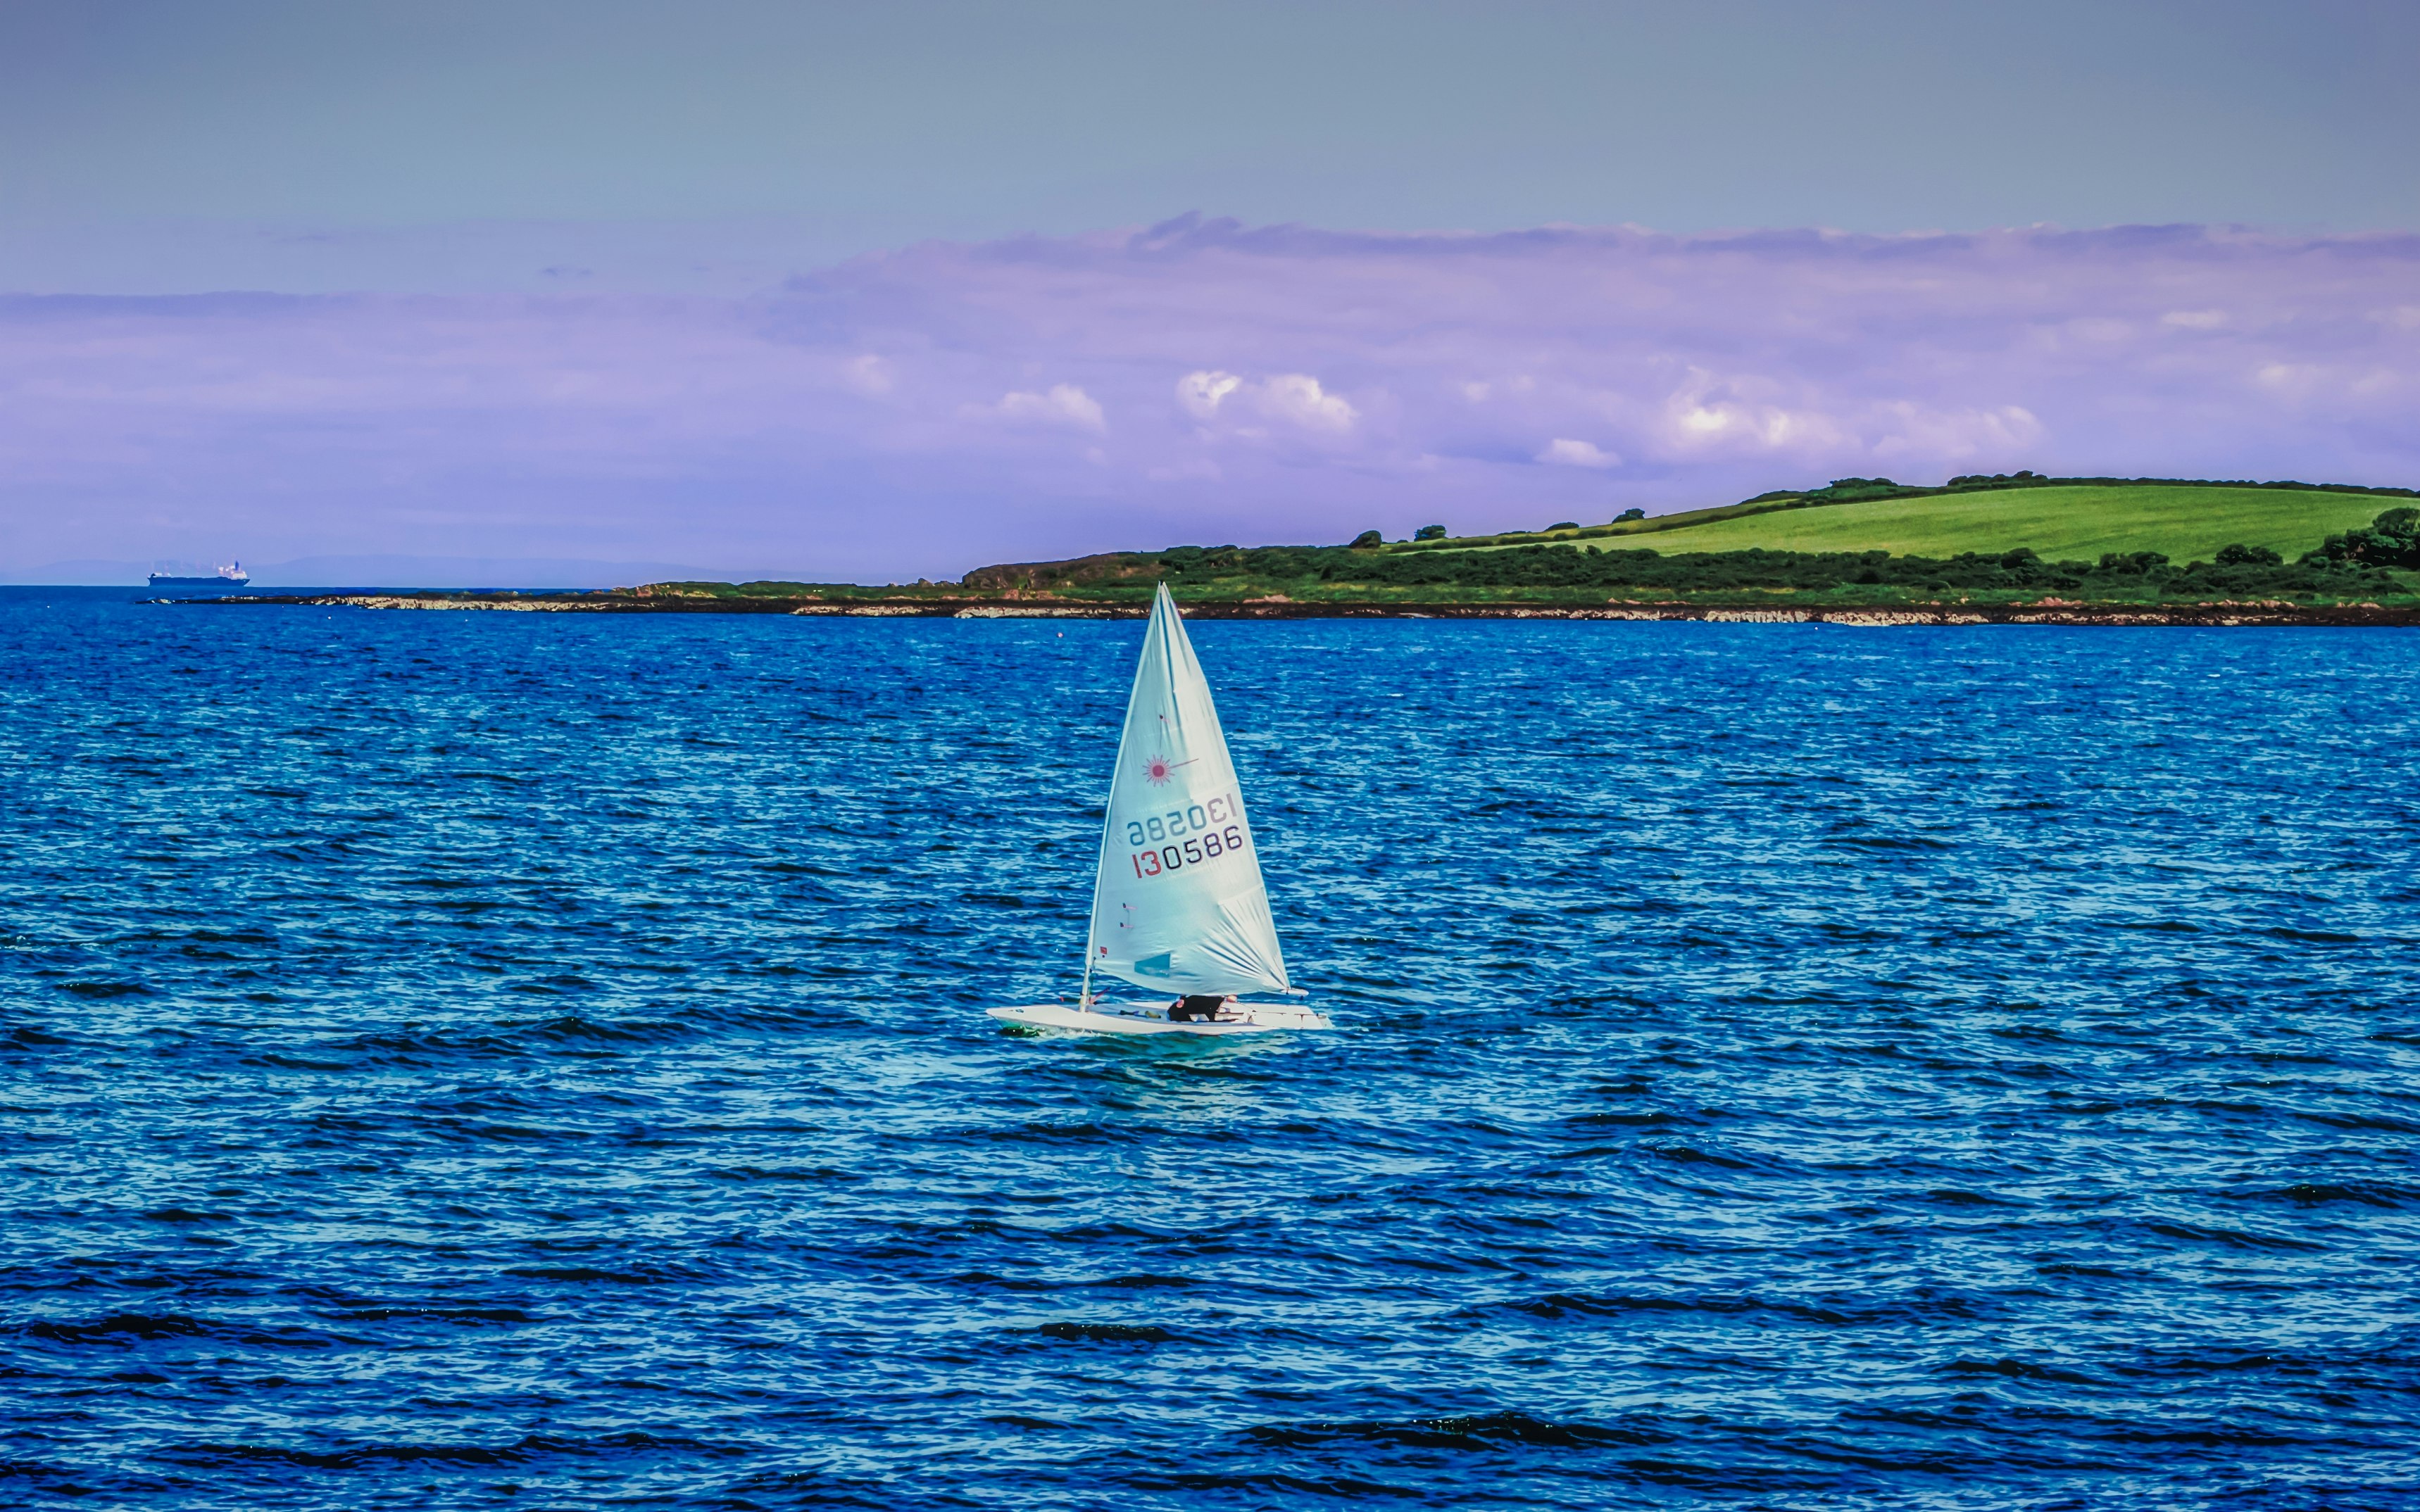
[[[2420,624],[2420,494],[2360,484],[1970,474],[1602,525],[1338,547],[1166,547],[958,583],[649,583],[593,593],[225,595],[380,610],[1125,617]]]

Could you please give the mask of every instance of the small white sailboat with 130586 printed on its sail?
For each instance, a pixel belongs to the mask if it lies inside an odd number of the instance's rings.
[[[1096,975],[1166,997],[1104,1004],[1091,992]],[[985,1011],[1012,1023],[1142,1035],[1336,1028],[1300,1004],[1229,1002],[1244,992],[1300,997],[1285,977],[1227,735],[1162,583],[1108,781],[1084,989],[1074,1006]]]

